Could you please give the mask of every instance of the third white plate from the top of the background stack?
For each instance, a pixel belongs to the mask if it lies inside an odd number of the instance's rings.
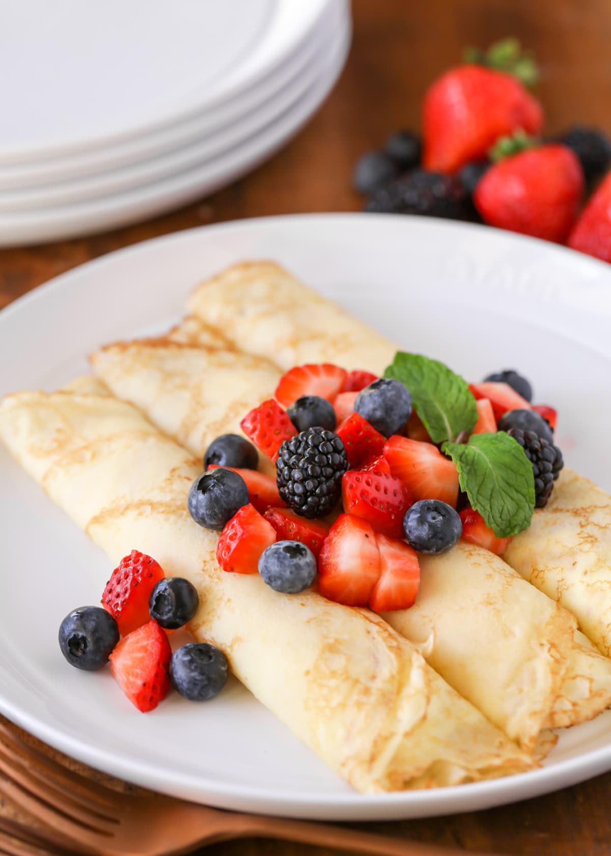
[[[44,187],[29,187],[12,192],[0,191],[0,215],[12,215],[16,211],[37,211],[41,208],[55,208],[63,205],[90,203],[97,199],[115,196],[132,188],[144,187],[164,178],[178,175],[187,169],[201,168],[205,164],[214,164],[223,152],[230,151],[244,140],[252,139],[262,128],[276,122],[285,110],[289,110],[302,98],[309,87],[317,80],[320,69],[327,61],[329,51],[333,51],[338,39],[342,39],[347,22],[345,15],[339,14],[339,8],[333,8],[329,15],[329,27],[323,33],[316,33],[296,56],[291,57],[289,68],[284,69],[286,77],[277,75],[275,91],[264,100],[255,99],[234,122],[218,128],[213,134],[206,134],[187,146],[176,146],[159,158],[147,158],[123,169],[116,169],[87,175],[75,181],[62,181]],[[44,215],[43,215],[44,216]]]

